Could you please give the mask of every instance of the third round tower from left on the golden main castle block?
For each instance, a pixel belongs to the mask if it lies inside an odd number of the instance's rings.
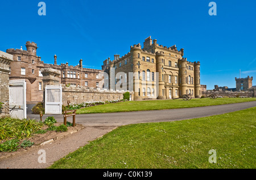
[[[179,64],[180,64],[180,91],[181,91],[181,95],[186,94],[187,92],[187,58],[182,58],[179,60]]]

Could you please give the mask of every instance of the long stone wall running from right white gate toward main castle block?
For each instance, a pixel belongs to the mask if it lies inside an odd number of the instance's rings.
[[[106,89],[99,89],[93,87],[67,87],[62,89],[62,103],[64,106],[68,105],[68,101],[73,104],[92,101],[114,101],[123,99],[123,93],[126,91],[112,91]],[[133,101],[134,93],[130,92],[131,100]]]

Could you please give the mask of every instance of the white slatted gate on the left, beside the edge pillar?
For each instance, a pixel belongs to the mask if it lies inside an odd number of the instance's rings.
[[[9,107],[11,118],[26,119],[26,80],[11,79],[9,82]]]

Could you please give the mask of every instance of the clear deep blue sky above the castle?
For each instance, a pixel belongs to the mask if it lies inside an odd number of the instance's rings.
[[[46,16],[38,15],[40,1],[1,1],[0,51],[38,44],[46,63],[69,62],[101,69],[102,61],[130,51],[146,37],[158,44],[184,48],[188,61],[201,62],[201,84],[236,87],[235,77],[253,76],[256,85],[256,1],[208,0],[43,1]]]

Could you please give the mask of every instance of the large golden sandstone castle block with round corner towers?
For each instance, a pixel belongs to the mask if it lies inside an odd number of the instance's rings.
[[[200,97],[200,62],[187,61],[183,48],[167,48],[151,36],[143,45],[135,44],[126,55],[104,61],[102,70],[108,74],[105,88],[133,90],[135,100],[173,99],[184,94]]]

